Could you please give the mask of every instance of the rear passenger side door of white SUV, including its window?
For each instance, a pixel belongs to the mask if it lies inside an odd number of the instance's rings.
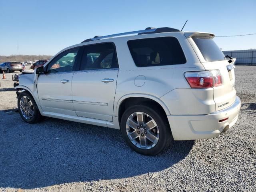
[[[113,120],[118,62],[113,43],[84,47],[80,70],[72,80],[73,105],[77,116]]]

